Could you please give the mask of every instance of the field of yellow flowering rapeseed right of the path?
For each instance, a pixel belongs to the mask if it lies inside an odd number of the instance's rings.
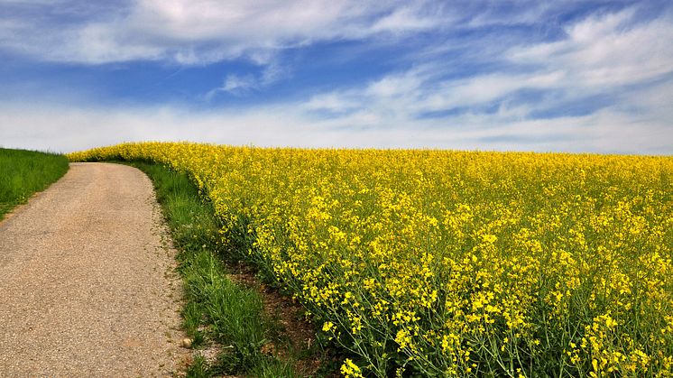
[[[670,376],[673,157],[128,143],[188,172],[346,376]]]

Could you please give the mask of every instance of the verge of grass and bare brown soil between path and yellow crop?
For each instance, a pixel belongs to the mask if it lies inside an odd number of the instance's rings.
[[[315,332],[300,307],[287,311],[288,300],[238,260],[236,245],[223,244],[212,205],[189,177],[159,164],[124,163],[153,181],[179,251],[183,327],[194,350],[187,376],[330,375],[327,352],[319,343],[311,345]]]

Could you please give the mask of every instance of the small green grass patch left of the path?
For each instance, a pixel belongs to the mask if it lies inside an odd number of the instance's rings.
[[[0,219],[68,171],[63,155],[0,148]]]

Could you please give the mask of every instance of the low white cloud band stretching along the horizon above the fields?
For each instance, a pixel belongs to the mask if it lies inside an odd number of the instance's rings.
[[[660,89],[671,88],[669,83]],[[666,114],[671,116],[671,111]],[[5,104],[0,106],[0,144],[57,152],[150,140],[297,147],[673,152],[673,128],[667,119],[625,112],[618,106],[592,115],[546,120],[510,119],[497,113],[420,120],[398,117],[391,123],[392,119],[374,109],[317,120],[298,104],[217,112]]]

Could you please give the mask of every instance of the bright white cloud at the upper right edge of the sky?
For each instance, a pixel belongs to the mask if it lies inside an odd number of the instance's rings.
[[[562,70],[570,86],[604,90],[673,72],[673,20],[633,20],[634,9],[595,15],[567,26],[568,38],[514,48],[508,59]]]

